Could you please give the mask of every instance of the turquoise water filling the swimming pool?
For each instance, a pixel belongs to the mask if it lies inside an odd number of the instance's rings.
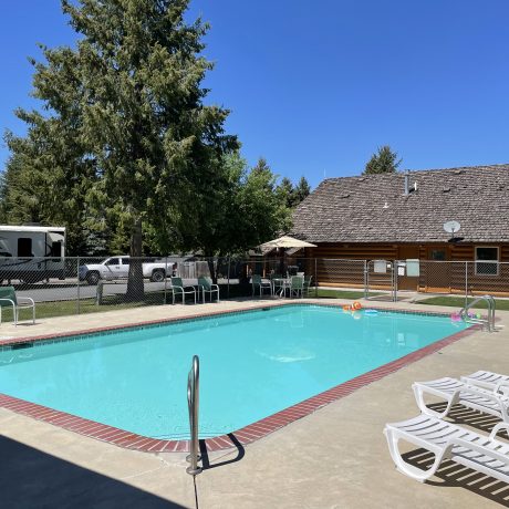
[[[465,329],[448,318],[290,305],[0,352],[0,393],[154,438],[233,432]]]

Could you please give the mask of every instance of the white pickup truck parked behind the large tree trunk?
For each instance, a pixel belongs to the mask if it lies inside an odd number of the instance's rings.
[[[143,277],[150,281],[162,282],[173,276],[173,262],[164,261],[143,262]],[[100,280],[126,279],[129,276],[129,257],[111,257],[101,263],[86,263],[80,266],[80,281],[87,281],[89,284],[97,284]]]

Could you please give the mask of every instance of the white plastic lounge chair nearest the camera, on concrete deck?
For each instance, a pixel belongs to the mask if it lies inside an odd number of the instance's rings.
[[[437,471],[443,459],[450,459],[503,482],[509,482],[509,445],[496,438],[501,429],[508,430],[509,424],[497,424],[489,437],[486,437],[422,414],[402,423],[386,424],[384,434],[396,468],[420,482]],[[433,466],[428,470],[422,470],[407,464],[397,447],[399,439],[433,453],[435,455]]]

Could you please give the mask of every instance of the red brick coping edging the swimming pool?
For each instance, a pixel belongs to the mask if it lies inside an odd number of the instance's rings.
[[[211,312],[211,313],[201,313],[201,314],[194,314],[187,316],[178,316],[175,319],[166,319],[166,320],[156,320],[143,323],[136,323],[131,325],[121,325],[121,326],[110,326],[110,328],[101,328],[101,329],[93,329],[86,331],[79,331],[65,334],[55,334],[55,335],[41,335],[34,337],[22,337],[22,339],[12,339],[12,340],[4,340],[0,341],[1,345],[8,344],[18,344],[18,343],[32,343],[37,341],[43,340],[55,340],[59,337],[69,337],[74,335],[81,334],[91,334],[95,332],[104,332],[104,331],[112,331],[112,330],[122,330],[128,329],[133,326],[143,326],[143,325],[152,325],[152,324],[160,324],[160,323],[170,323],[177,322],[181,320],[189,320],[189,319],[200,319],[207,316],[215,316],[215,315],[222,315],[222,314],[235,314],[235,313],[242,313],[245,311],[251,310],[259,310],[263,308],[274,308],[281,305],[295,305],[301,303],[293,302],[281,302],[281,303],[266,303],[263,305],[258,307],[250,307],[246,309],[239,310],[231,310],[231,311],[220,311],[220,312]],[[314,302],[302,302],[302,304],[314,304]],[[325,304],[316,304],[316,305],[328,305],[334,308],[341,308],[341,304],[335,303],[325,303]],[[376,308],[371,308],[376,309]],[[427,314],[427,315],[448,315],[449,313],[439,313],[439,312],[423,312],[423,311],[412,311],[412,310],[397,310],[397,309],[378,309],[381,312],[386,311],[394,311],[398,313],[416,313],[416,314]],[[469,329],[465,329],[459,331],[455,334],[451,334],[443,340],[439,340],[435,343],[432,343],[420,350],[412,352],[401,359],[389,362],[388,364],[384,364],[383,366],[376,367],[367,373],[364,373],[355,378],[349,380],[335,387],[332,387],[323,393],[316,394],[308,399],[304,399],[297,405],[290,406],[281,412],[278,412],[269,417],[260,419],[253,424],[245,426],[241,429],[232,432],[231,434],[236,437],[236,439],[241,445],[248,445],[252,442],[256,442],[294,420],[298,420],[307,415],[312,414],[313,412],[318,411],[319,408],[341,399],[344,396],[353,393],[357,388],[364,387],[377,380],[383,378],[384,376],[394,373],[402,367],[405,367],[420,359],[437,352],[438,350],[447,346],[461,337],[465,337],[471,334],[474,331],[479,330],[478,325],[471,326]],[[24,399],[19,399],[17,397],[8,396],[6,394],[0,394],[0,407],[7,408],[9,411],[15,412],[17,414],[22,414],[35,418],[38,420],[43,420],[45,423],[52,424],[54,426],[62,427],[70,432],[79,433],[81,435],[85,435],[91,438],[95,438],[98,440],[106,442],[108,444],[114,444],[118,447],[124,447],[127,449],[135,449],[139,451],[146,453],[187,453],[189,450],[189,442],[188,440],[162,440],[156,438],[149,438],[146,436],[137,435],[135,433],[129,433],[124,429],[115,428],[113,426],[107,426],[105,424],[96,423],[94,420],[89,420],[83,417],[77,417],[75,415],[66,414],[65,412],[55,411],[49,408],[46,406],[38,405],[35,403],[30,403]],[[236,447],[232,440],[229,438],[228,435],[221,435],[214,438],[206,438],[205,445],[207,450],[215,451],[220,449],[229,449]]]

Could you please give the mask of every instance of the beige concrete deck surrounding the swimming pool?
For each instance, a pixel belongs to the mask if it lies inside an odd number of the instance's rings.
[[[312,300],[310,300],[312,302]],[[0,325],[0,340],[258,307],[264,301],[155,307]],[[273,301],[268,301],[273,302]],[[326,303],[326,300],[319,301]],[[372,302],[376,308],[451,308]],[[0,408],[0,490],[6,507],[97,508],[484,508],[509,507],[509,485],[444,464],[427,484],[397,472],[382,434],[418,414],[411,384],[479,368],[508,373],[509,312],[498,332],[476,331],[311,415],[248,445],[211,453],[193,478],[181,454],[128,450]],[[496,419],[458,409],[464,426],[489,432]],[[416,458],[426,460],[426,458]]]

